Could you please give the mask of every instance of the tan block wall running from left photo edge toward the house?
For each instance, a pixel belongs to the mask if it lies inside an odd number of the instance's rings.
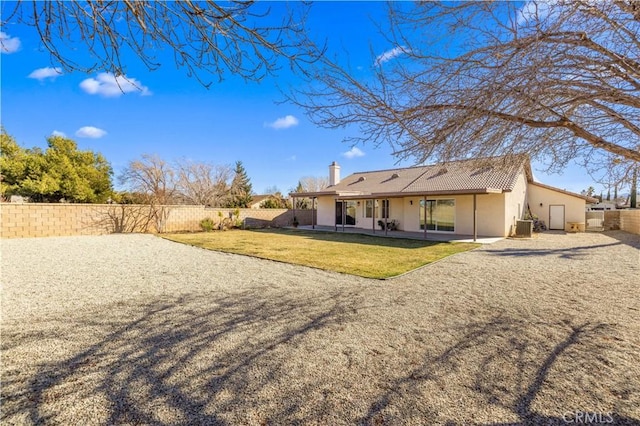
[[[296,210],[301,225],[311,224],[311,210]],[[210,218],[216,227],[283,227],[293,223],[287,209],[220,209],[204,206],[132,204],[0,204],[0,237],[101,235],[126,232],[200,231]]]

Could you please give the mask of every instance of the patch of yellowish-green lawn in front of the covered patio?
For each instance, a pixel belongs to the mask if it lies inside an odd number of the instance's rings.
[[[287,229],[168,234],[163,237],[209,250],[313,266],[367,278],[393,277],[479,246],[473,243]]]

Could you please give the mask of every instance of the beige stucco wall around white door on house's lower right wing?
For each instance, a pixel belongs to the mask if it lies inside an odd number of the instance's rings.
[[[549,226],[550,205],[564,205],[565,231],[569,230],[567,222],[584,223],[586,201],[582,198],[529,184],[528,202],[531,213],[543,220],[547,226]]]

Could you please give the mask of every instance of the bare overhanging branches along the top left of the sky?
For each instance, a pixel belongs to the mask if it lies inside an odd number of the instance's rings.
[[[149,69],[169,51],[201,83],[225,73],[258,81],[287,64],[302,70],[321,51],[306,37],[307,5],[255,1],[18,1],[3,5],[2,26],[35,28],[52,63],[68,71],[125,75],[135,54]],[[78,54],[78,53],[82,54]]]

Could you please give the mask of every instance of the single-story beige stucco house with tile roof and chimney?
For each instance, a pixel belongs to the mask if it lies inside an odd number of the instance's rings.
[[[549,229],[584,230],[593,199],[534,182],[529,158],[510,155],[428,166],[358,172],[329,186],[292,193],[311,197],[317,225],[366,230],[506,237],[530,213]]]

